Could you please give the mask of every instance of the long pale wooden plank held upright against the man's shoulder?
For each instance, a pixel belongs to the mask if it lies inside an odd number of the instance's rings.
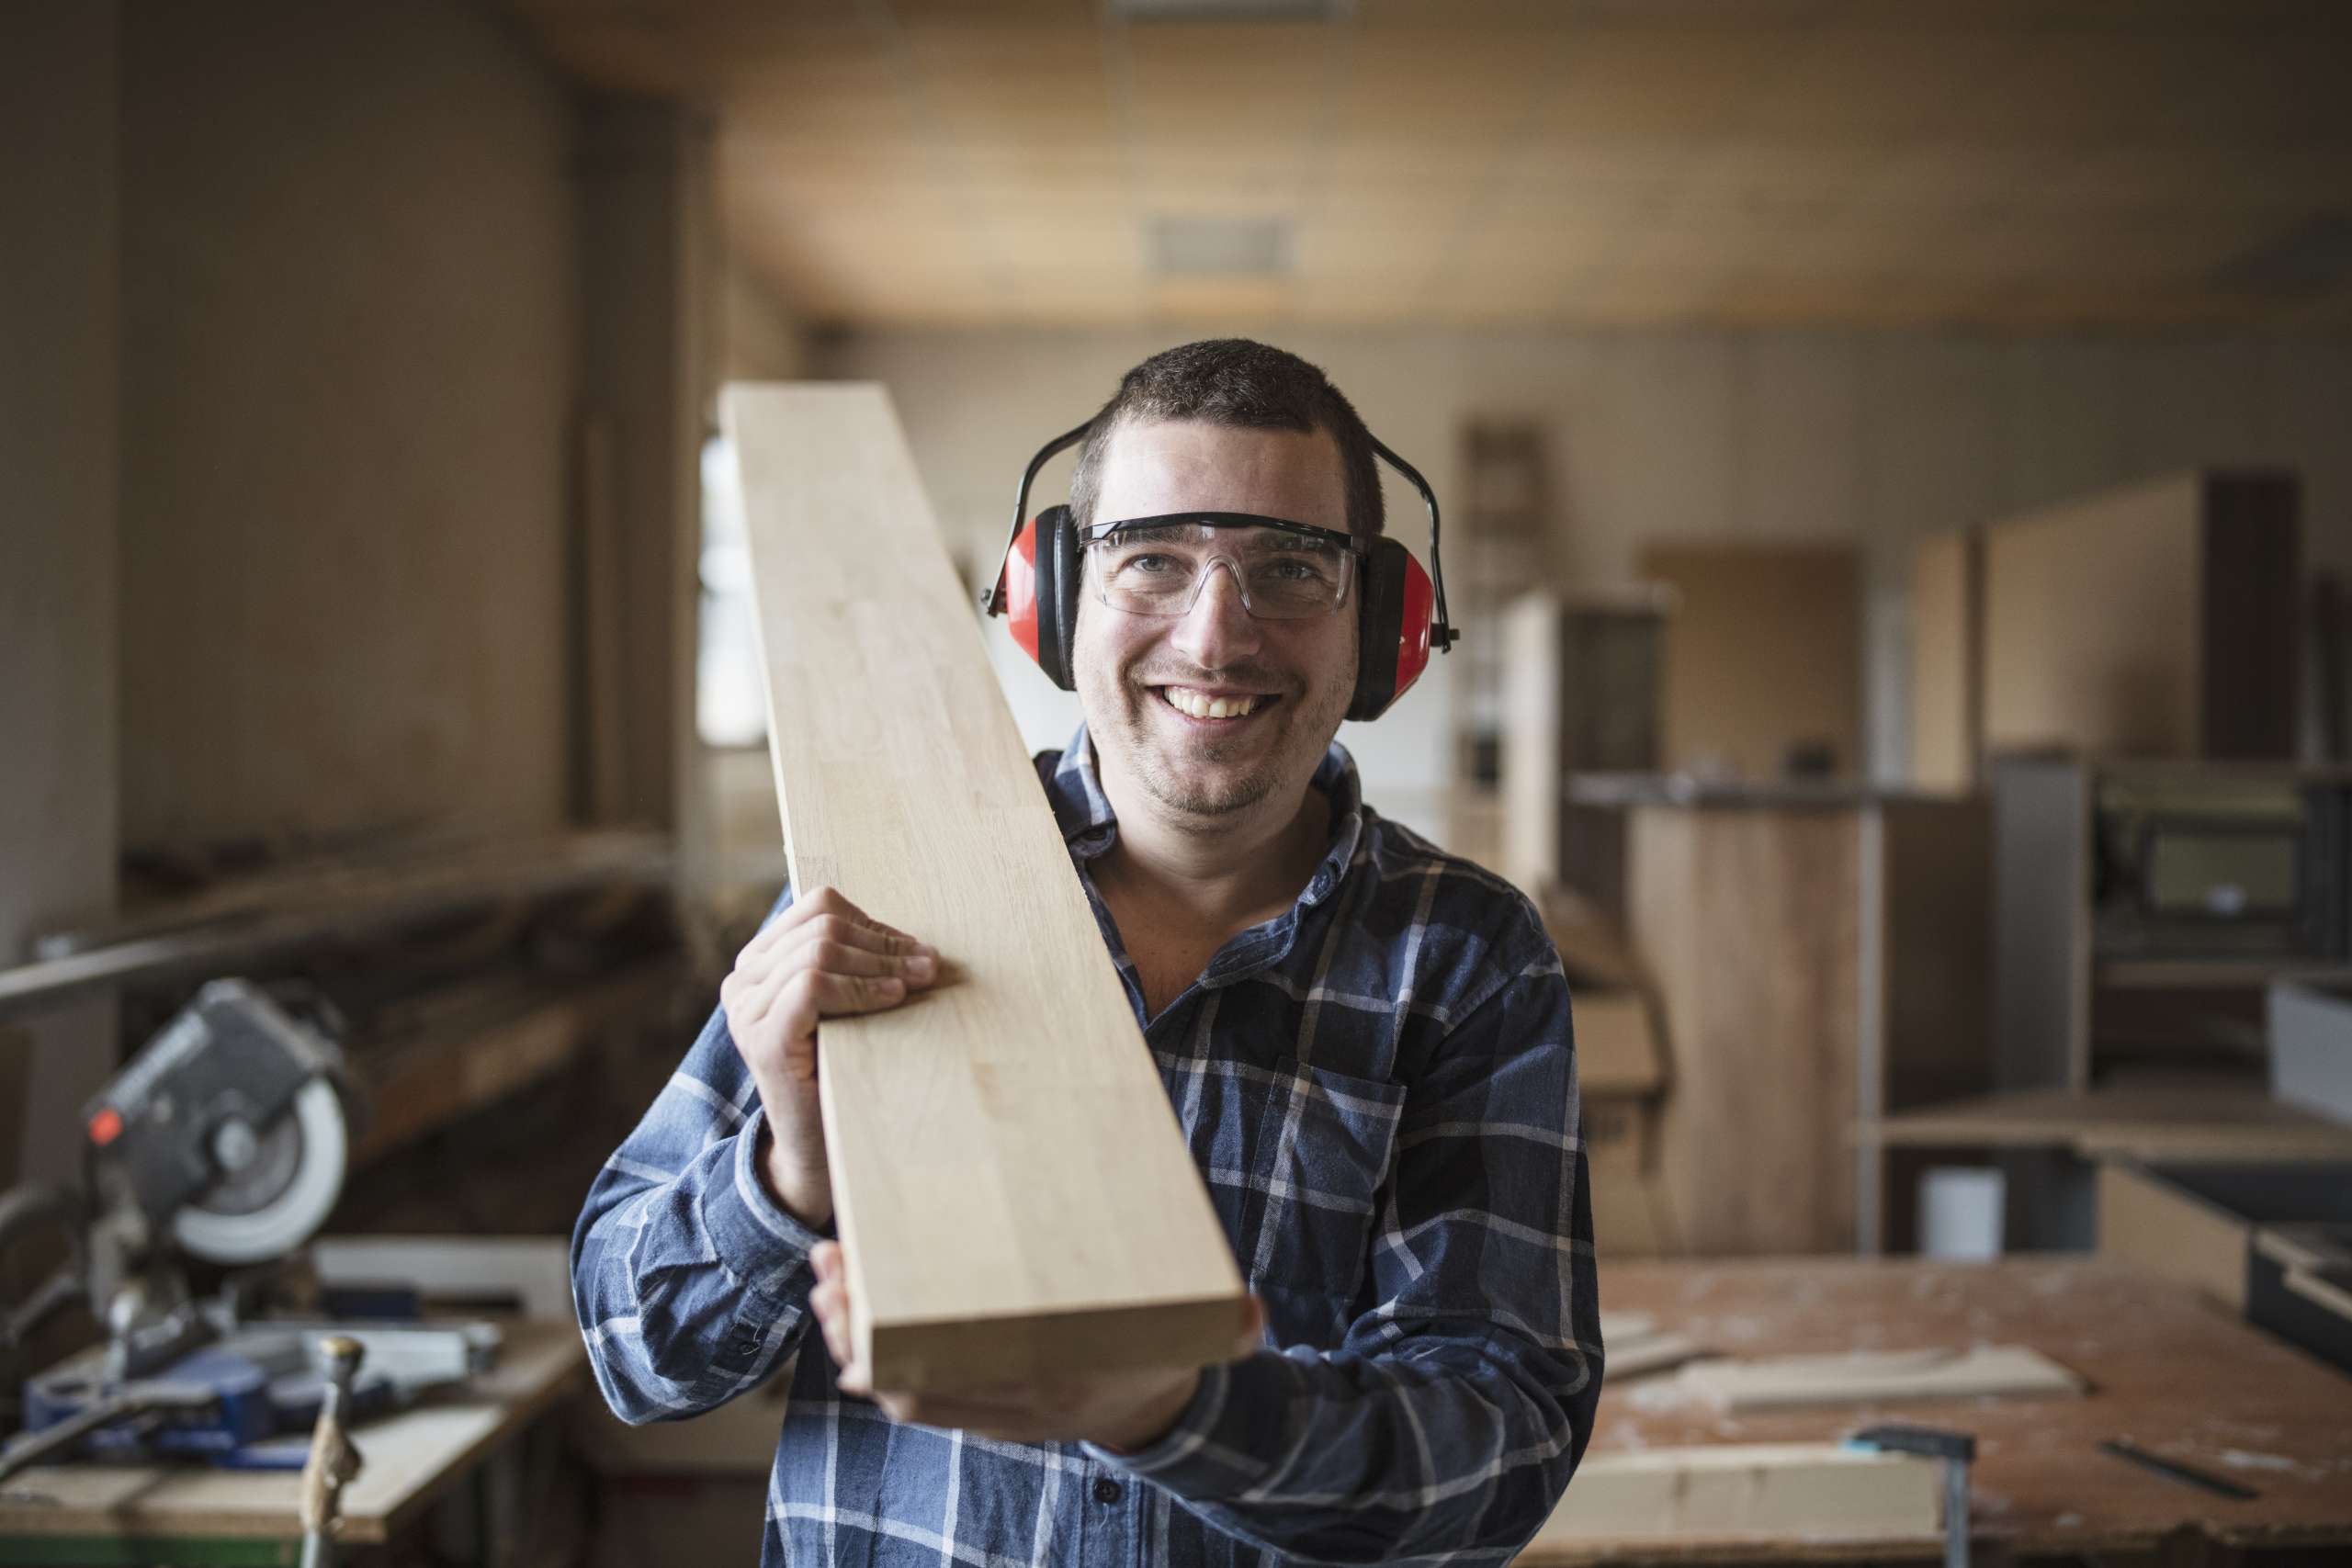
[[[880,1387],[1230,1354],[1242,1279],[875,386],[734,386],[795,889],[950,983],[823,1027]]]

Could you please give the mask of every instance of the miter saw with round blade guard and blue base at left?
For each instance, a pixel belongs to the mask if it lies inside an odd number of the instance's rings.
[[[346,1335],[367,1373],[343,1413],[367,1415],[496,1359],[492,1324],[339,1324],[266,1316],[273,1265],[327,1222],[350,1164],[339,1020],[214,980],[82,1112],[82,1192],[0,1197],[0,1255],[38,1234],[66,1265],[0,1314],[0,1356],[85,1302],[106,1342],[24,1385],[26,1434],[0,1479],[75,1450],[193,1453],[301,1467]],[[186,1260],[242,1269],[198,1300]]]

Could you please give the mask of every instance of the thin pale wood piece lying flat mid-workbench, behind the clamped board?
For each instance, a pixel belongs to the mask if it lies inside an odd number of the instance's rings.
[[[1729,1415],[1788,1406],[2082,1394],[2082,1378],[2027,1345],[1698,1361],[1682,1368],[1682,1385]]]

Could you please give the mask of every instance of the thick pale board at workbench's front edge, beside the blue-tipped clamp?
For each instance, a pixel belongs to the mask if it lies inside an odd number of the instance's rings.
[[[1529,1554],[1644,1542],[1684,1552],[1788,1535],[1924,1547],[1940,1528],[1933,1460],[1839,1443],[1724,1443],[1588,1455]]]

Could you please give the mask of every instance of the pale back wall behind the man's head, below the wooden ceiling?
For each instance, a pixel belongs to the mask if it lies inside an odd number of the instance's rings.
[[[1242,327],[1249,331],[1249,327]],[[1094,411],[1122,369],[1207,329],[849,331],[828,376],[884,381],[941,522],[974,559],[1002,548],[1021,463]],[[1258,329],[1315,360],[1388,444],[1456,498],[1461,428],[1531,416],[1550,433],[1555,559],[1583,585],[1635,578],[1670,538],[1858,541],[1865,748],[1905,766],[1910,541],[2194,463],[2279,463],[2305,482],[2314,569],[2352,571],[2352,334],[2161,331],[1338,331]],[[1068,458],[1047,473],[1061,496]],[[1390,487],[1392,527],[1425,545]],[[993,559],[993,555],[990,555]],[[1494,628],[1486,628],[1491,635]],[[1479,635],[1477,630],[1472,635]],[[990,646],[1033,745],[1075,698],[1002,635]],[[1442,665],[1378,726],[1348,726],[1378,802],[1435,823],[1451,757]]]

